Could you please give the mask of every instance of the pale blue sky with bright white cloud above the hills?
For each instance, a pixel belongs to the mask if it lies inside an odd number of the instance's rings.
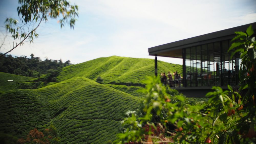
[[[34,43],[8,54],[77,64],[100,57],[150,58],[148,48],[256,22],[255,0],[70,0],[79,6],[74,30],[50,19]],[[18,19],[18,0],[0,0],[0,45],[7,17]],[[0,52],[13,45],[7,38]],[[182,59],[157,57],[182,64]]]

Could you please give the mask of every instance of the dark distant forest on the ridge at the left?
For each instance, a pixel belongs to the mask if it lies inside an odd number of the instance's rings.
[[[0,72],[29,77],[40,77],[43,74],[58,71],[68,65],[71,65],[69,60],[66,62],[62,62],[61,59],[45,59],[42,61],[40,57],[34,57],[33,53],[30,55],[30,58],[26,56],[12,57],[12,55],[6,55],[0,58]]]

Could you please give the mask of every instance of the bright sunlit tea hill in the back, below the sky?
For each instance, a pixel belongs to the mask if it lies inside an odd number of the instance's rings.
[[[165,72],[167,74],[168,71],[182,73],[182,65],[158,61],[158,73]],[[140,85],[146,76],[153,75],[153,59],[112,56],[65,67],[58,79],[62,81],[81,76],[96,80],[100,76],[103,79],[103,84]]]

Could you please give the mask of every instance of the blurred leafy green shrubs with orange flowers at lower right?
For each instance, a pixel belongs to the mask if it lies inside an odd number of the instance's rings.
[[[191,104],[186,97],[160,85],[159,77],[147,81],[141,110],[124,119],[122,143],[252,143],[256,141],[256,42],[250,26],[237,36],[229,50],[239,52],[240,91],[213,86],[207,103]],[[246,89],[243,97],[239,94]],[[168,93],[167,93],[168,92]]]

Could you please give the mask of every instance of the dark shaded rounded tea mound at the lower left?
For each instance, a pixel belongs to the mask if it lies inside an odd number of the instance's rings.
[[[17,138],[50,121],[47,98],[35,90],[12,90],[0,95],[0,131]]]

